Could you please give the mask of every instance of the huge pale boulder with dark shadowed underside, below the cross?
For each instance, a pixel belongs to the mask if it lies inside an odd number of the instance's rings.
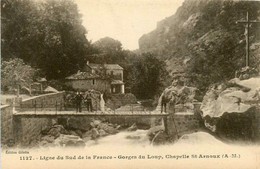
[[[205,126],[229,139],[259,139],[259,91],[260,77],[211,86],[201,105]]]

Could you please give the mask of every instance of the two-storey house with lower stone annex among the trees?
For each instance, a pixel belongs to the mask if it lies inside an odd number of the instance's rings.
[[[87,62],[83,71],[66,78],[66,85],[75,90],[98,90],[109,93],[125,93],[123,68],[118,64],[93,64]]]

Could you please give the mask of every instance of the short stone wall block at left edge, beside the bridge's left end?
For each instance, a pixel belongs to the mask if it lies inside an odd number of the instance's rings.
[[[1,144],[9,144],[13,140],[13,107],[11,105],[1,106]]]

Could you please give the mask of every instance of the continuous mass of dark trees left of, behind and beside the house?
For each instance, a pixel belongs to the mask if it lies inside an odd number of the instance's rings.
[[[72,0],[3,0],[1,10],[2,89],[28,87],[37,69],[49,85],[66,90],[64,78],[86,61],[122,66],[126,89],[138,98],[153,98],[164,88],[165,65],[154,56],[124,50],[109,37],[91,44]]]

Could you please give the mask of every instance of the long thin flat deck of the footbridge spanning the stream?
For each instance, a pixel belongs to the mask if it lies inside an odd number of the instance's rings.
[[[15,112],[14,116],[168,116],[168,113],[161,112],[144,112],[144,111],[116,111],[116,112],[78,112],[75,111],[26,111]]]

